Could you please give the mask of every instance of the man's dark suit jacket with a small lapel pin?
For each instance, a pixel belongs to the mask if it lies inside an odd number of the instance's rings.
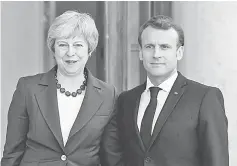
[[[120,137],[128,166],[228,166],[227,118],[218,88],[179,73],[146,150],[136,121],[145,86],[118,98]]]

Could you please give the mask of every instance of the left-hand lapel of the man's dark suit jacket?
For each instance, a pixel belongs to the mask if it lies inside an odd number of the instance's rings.
[[[140,132],[137,127],[137,115],[138,115],[138,110],[139,110],[139,103],[141,99],[141,94],[146,88],[146,82],[142,85],[140,85],[132,95],[131,99],[132,101],[130,102],[131,105],[131,110],[133,110],[133,130],[135,134],[137,135],[136,137],[136,142],[140,145],[140,148],[142,151],[145,151],[145,146],[143,144]]]

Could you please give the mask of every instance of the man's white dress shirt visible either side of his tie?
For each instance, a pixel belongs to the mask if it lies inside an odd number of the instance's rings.
[[[157,95],[157,106],[156,106],[156,111],[155,111],[155,115],[154,115],[153,122],[152,122],[151,134],[153,133],[153,130],[154,130],[156,121],[158,119],[158,116],[160,114],[160,111],[162,110],[163,105],[164,105],[164,103],[169,95],[169,92],[170,92],[177,77],[178,77],[178,73],[175,72],[174,74],[172,74],[172,76],[170,76],[167,80],[165,80],[164,82],[162,82],[159,85],[159,88],[161,88],[162,90],[160,90]],[[144,116],[146,107],[148,106],[148,104],[150,102],[149,88],[152,86],[154,86],[154,85],[151,83],[150,79],[147,77],[146,89],[144,90],[144,92],[141,95],[139,109],[138,109],[138,115],[137,115],[137,126],[138,126],[139,131],[141,128],[142,118]]]

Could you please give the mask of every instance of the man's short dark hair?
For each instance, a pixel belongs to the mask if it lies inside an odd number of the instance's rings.
[[[155,29],[162,29],[162,30],[169,30],[170,28],[173,28],[177,34],[178,34],[178,42],[177,46],[184,46],[184,32],[183,29],[174,23],[173,19],[168,17],[168,16],[163,16],[163,15],[157,15],[153,16],[150,20],[145,22],[139,30],[139,36],[138,36],[138,43],[142,47],[142,39],[141,35],[144,29],[147,27],[152,27]]]

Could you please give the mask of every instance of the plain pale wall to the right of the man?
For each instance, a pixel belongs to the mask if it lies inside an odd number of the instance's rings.
[[[237,2],[174,2],[173,17],[185,33],[179,70],[221,89],[229,121],[230,166],[237,165]]]

